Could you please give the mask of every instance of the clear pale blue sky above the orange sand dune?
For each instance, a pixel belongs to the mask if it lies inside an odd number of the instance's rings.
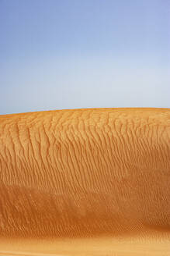
[[[170,108],[170,0],[0,0],[0,114]]]

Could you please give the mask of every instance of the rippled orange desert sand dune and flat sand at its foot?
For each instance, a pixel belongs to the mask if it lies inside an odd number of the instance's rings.
[[[0,116],[0,255],[170,255],[170,109]]]

